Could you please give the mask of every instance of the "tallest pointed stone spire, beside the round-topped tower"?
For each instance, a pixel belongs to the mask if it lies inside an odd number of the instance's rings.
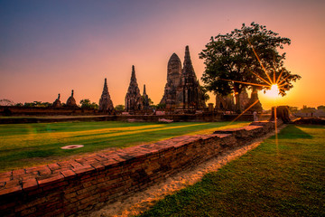
[[[185,48],[183,69],[181,71],[181,81],[176,92],[177,109],[202,109],[205,101],[200,88],[199,80],[190,60],[189,46]]]

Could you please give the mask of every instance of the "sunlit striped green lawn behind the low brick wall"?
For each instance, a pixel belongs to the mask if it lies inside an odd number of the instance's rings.
[[[243,127],[248,122],[228,124],[111,121],[0,125],[0,172],[112,147],[135,146],[185,134],[207,134],[220,127]],[[69,145],[84,147],[70,150],[60,148]]]

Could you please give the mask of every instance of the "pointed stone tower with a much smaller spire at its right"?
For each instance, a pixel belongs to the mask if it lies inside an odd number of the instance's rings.
[[[125,110],[134,111],[144,109],[143,99],[135,78],[135,66],[132,66],[132,74],[129,88],[125,96]]]

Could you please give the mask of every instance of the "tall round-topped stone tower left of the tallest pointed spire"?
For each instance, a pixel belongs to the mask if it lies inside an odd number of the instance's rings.
[[[181,83],[181,60],[176,53],[172,53],[167,65],[167,83],[164,88],[163,99],[160,104],[165,104],[166,109],[176,106],[176,91]]]

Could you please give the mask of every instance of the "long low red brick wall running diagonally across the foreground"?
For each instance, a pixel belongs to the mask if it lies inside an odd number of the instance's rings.
[[[127,197],[274,129],[274,122],[183,136],[0,174],[0,216],[70,216]]]

